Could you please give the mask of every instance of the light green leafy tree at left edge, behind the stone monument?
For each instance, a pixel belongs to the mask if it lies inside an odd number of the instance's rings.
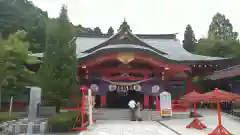
[[[0,104],[2,92],[14,96],[30,82],[34,73],[26,68],[26,64],[40,62],[29,55],[25,37],[25,31],[17,31],[7,40],[0,41]]]

